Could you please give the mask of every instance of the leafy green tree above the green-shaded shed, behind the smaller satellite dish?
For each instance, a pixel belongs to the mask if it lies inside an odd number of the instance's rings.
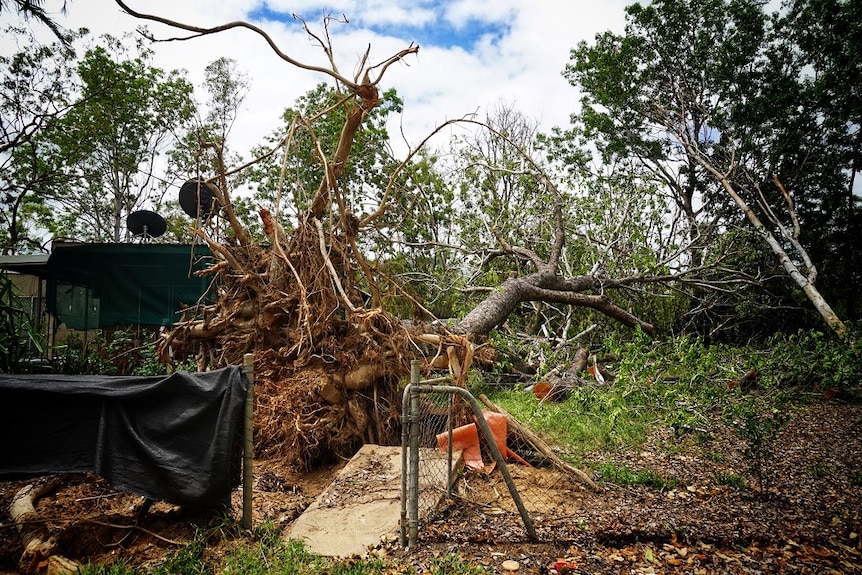
[[[55,235],[121,241],[126,216],[164,189],[155,166],[192,117],[192,86],[176,70],[152,67],[140,41],[134,50],[105,36],[78,64],[80,102],[48,138],[71,159],[70,186],[45,190],[61,208]]]

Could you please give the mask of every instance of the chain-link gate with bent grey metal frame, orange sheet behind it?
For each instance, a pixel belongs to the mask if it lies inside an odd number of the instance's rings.
[[[402,543],[574,539],[592,481],[482,399],[448,378],[405,390]]]

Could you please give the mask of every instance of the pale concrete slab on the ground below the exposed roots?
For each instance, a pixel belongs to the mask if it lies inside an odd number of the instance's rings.
[[[446,454],[420,452],[420,515],[445,494]],[[460,453],[455,465],[460,465]],[[454,476],[454,474],[453,474]],[[329,557],[363,555],[384,535],[400,533],[401,448],[365,445],[287,532]]]

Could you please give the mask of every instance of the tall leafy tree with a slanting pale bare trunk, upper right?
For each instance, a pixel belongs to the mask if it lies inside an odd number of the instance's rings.
[[[740,216],[749,220],[840,333],[840,320],[814,287],[816,268],[795,227],[798,206],[771,183],[780,166],[764,149],[777,140],[762,124],[740,121],[787,80],[769,73],[774,37],[761,3],[667,0],[634,4],[627,14],[624,36],[604,33],[572,51],[566,76],[585,94],[575,120],[599,139],[606,159],[637,163],[664,183],[687,218],[693,246],[698,238],[714,241]],[[779,109],[772,106],[772,118]],[[702,257],[695,249],[690,265]]]

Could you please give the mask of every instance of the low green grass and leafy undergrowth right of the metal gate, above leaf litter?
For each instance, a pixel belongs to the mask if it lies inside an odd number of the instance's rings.
[[[596,353],[600,365],[615,374],[611,382],[574,387],[562,401],[540,402],[520,389],[486,391],[531,429],[565,445],[572,461],[598,451],[636,447],[656,426],[704,428],[727,420],[727,414],[738,423],[746,460],[766,472],[770,442],[787,415],[782,394],[797,400],[810,397],[803,394],[812,385],[825,385],[817,373],[827,366],[836,374],[829,379],[832,385],[858,393],[856,341],[842,343],[805,332],[765,346],[734,347],[706,345],[689,336],[663,341],[637,331],[627,339],[612,333]],[[508,345],[515,349],[516,344]],[[730,383],[752,369],[756,377],[750,391]],[[771,402],[761,403],[761,396]]]

